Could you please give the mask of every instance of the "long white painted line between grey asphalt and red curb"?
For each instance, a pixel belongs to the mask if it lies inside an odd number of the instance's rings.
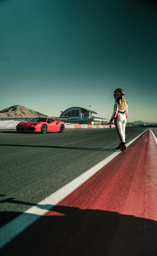
[[[138,139],[143,133],[141,133],[135,139],[130,141],[127,144],[127,146],[133,143],[133,141],[135,141],[136,139]],[[37,221],[42,215],[48,212],[52,207],[54,207],[54,205],[58,204],[70,193],[72,193],[76,188],[81,186],[81,184],[83,184],[86,180],[92,177],[96,172],[98,172],[103,166],[108,164],[111,160],[113,160],[113,158],[115,158],[120,153],[120,150],[114,152],[112,155],[108,156],[106,159],[102,160],[100,163],[98,163],[88,171],[84,172],[79,177],[66,184],[64,187],[57,190],[55,193],[51,194],[50,196],[40,201],[35,206],[29,208],[29,210],[25,211],[24,213],[22,213],[21,215],[19,215],[18,217],[16,217],[12,221],[1,227],[0,248],[5,246],[13,238],[17,237],[22,231],[24,231],[27,227],[29,227],[31,224]]]

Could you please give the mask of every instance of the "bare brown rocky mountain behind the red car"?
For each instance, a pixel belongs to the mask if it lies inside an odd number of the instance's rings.
[[[16,105],[3,109],[0,111],[0,117],[48,117],[33,109]]]

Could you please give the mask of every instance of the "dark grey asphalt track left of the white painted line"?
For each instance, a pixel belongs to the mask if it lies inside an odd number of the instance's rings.
[[[126,128],[126,143],[146,129]],[[107,158],[118,144],[115,128],[1,131],[1,226]]]

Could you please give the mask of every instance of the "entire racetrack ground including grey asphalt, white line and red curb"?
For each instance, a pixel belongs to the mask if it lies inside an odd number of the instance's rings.
[[[126,143],[142,135],[124,152],[115,128],[0,132],[0,254],[156,256],[157,144],[146,129],[126,128]]]

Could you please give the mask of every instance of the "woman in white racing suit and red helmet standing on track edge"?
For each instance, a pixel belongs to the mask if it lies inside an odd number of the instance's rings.
[[[120,149],[124,151],[127,149],[125,144],[125,125],[126,119],[128,117],[128,103],[124,98],[124,91],[120,88],[114,91],[114,110],[109,124],[112,124],[114,120],[114,124],[116,126],[116,130],[120,139],[120,144],[116,149]]]

